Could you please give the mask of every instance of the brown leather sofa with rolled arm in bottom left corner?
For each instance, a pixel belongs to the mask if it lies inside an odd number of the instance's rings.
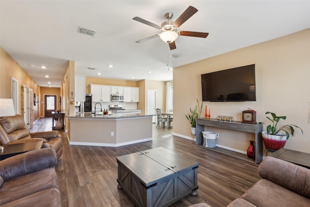
[[[33,150],[0,161],[1,207],[60,207],[55,150]]]

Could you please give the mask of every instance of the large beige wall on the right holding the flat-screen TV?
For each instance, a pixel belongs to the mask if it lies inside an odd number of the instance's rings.
[[[266,111],[287,116],[286,121],[281,123],[297,125],[304,134],[296,130],[285,147],[310,153],[309,55],[310,29],[174,68],[173,133],[190,137],[190,125],[185,114],[195,106],[196,98],[202,100],[201,74],[255,64],[256,101],[203,102],[203,108],[207,104],[211,109],[211,118],[228,115],[236,121],[241,121],[241,111],[248,108],[257,111],[258,122],[267,121]],[[225,143],[230,147],[233,139]]]

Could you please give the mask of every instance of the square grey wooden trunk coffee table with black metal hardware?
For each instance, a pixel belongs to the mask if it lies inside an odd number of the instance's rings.
[[[118,188],[139,207],[166,207],[197,195],[199,162],[156,147],[116,158]]]

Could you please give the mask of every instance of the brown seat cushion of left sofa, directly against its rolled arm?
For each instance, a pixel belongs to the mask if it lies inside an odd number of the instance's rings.
[[[0,205],[24,197],[27,198],[26,196],[50,188],[58,188],[58,180],[54,167],[45,168],[30,174],[6,180],[0,188]],[[56,197],[59,197],[59,195]],[[29,200],[29,202],[32,203],[31,200]],[[27,203],[27,205],[24,206],[32,207],[30,203]],[[43,205],[44,203],[46,202],[43,199],[38,204]]]

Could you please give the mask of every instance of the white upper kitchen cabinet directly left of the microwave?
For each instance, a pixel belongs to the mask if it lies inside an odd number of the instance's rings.
[[[93,102],[111,101],[111,86],[91,84],[91,93],[93,95]]]

